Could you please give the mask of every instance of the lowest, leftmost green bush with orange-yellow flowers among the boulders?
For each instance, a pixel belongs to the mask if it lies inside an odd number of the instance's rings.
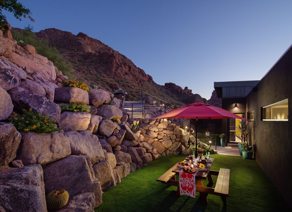
[[[58,122],[52,117],[46,117],[35,110],[22,110],[23,114],[13,112],[8,121],[15,126],[17,131],[29,131],[36,133],[53,133],[59,131]]]

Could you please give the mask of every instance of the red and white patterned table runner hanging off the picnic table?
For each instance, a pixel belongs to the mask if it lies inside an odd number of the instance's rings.
[[[196,197],[196,174],[185,173],[180,170],[180,195],[187,194]]]

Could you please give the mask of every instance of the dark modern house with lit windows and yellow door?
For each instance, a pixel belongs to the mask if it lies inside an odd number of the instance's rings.
[[[214,82],[222,108],[257,124],[253,156],[292,206],[292,45],[260,81]],[[290,116],[290,117],[289,117]],[[237,119],[223,119],[222,132],[229,146],[237,145],[234,136]]]

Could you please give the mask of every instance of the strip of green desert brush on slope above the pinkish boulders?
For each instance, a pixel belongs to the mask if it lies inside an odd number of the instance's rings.
[[[18,40],[22,40],[24,44],[34,46],[36,53],[43,55],[48,58],[48,60],[52,61],[63,75],[66,75],[69,79],[74,78],[71,63],[64,60],[57,48],[49,46],[49,42],[47,40],[36,39],[35,34],[29,30],[22,30],[22,33],[12,31],[11,34],[13,39],[16,40],[18,38]]]

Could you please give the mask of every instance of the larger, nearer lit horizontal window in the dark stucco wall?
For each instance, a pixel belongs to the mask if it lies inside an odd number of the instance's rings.
[[[288,121],[288,99],[263,107],[263,121]]]

